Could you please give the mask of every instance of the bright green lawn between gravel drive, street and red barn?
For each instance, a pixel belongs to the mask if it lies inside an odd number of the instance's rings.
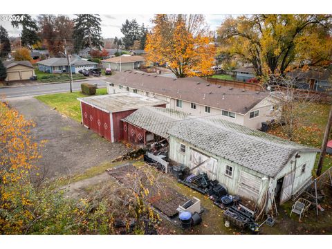
[[[107,89],[97,89],[96,95],[107,94]],[[82,92],[73,93],[55,93],[48,95],[40,95],[35,98],[48,104],[50,107],[54,107],[69,118],[73,118],[77,122],[81,122],[81,107],[77,98],[86,97]]]

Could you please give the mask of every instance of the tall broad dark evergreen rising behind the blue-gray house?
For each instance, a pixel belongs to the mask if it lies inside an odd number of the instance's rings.
[[[83,48],[93,47],[99,50],[104,45],[102,39],[102,28],[100,28],[100,19],[98,14],[77,14],[77,18],[74,19],[73,39],[74,39],[74,50],[78,53]]]

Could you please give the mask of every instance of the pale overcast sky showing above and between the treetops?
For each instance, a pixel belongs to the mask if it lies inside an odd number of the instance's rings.
[[[6,21],[3,21],[6,16]],[[32,15],[34,18],[37,15]],[[68,15],[71,18],[75,18],[75,15]],[[210,25],[212,30],[216,30],[216,27],[221,24],[221,21],[225,18],[226,15],[205,15],[206,21]],[[126,19],[136,19],[138,24],[144,23],[145,26],[151,27],[151,19],[154,15],[100,15],[102,19],[102,36],[104,38],[111,37],[122,37],[122,33],[120,31],[121,25],[124,23]],[[13,28],[8,21],[8,15],[1,15],[0,25],[2,25],[8,31],[10,36],[17,37],[21,30],[17,28]]]

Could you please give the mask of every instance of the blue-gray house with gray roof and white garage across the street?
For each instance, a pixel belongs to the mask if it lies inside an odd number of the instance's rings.
[[[37,62],[39,71],[45,73],[69,73],[68,61],[66,58],[50,58]],[[89,62],[80,57],[71,57],[71,71],[78,73],[82,69],[95,69],[98,63]]]

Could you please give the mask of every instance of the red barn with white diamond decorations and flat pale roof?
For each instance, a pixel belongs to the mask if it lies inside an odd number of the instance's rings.
[[[140,107],[166,107],[167,102],[136,93],[116,93],[86,98],[81,102],[82,124],[111,142],[122,140],[122,119]]]

